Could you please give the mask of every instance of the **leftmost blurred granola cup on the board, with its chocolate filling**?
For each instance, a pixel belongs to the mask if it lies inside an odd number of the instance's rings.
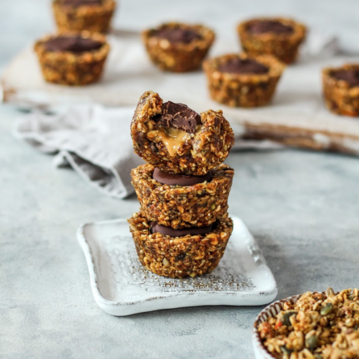
[[[102,34],[87,31],[45,36],[34,45],[44,79],[63,85],[98,81],[109,49]]]

